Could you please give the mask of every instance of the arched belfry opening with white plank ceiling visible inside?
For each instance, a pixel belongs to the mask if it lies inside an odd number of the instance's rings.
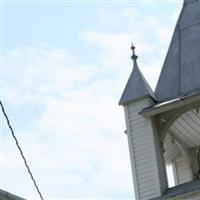
[[[178,113],[176,113],[178,115]],[[175,185],[200,179],[200,112],[180,110],[165,130],[164,159],[171,166]]]

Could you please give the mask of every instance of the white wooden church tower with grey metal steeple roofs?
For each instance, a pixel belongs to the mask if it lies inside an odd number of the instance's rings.
[[[200,200],[200,0],[184,0],[155,92],[131,49],[133,70],[119,104],[136,200]]]

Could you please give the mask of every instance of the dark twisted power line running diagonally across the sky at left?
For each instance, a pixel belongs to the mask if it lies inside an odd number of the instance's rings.
[[[21,149],[21,147],[20,147],[20,145],[19,145],[19,142],[18,142],[16,136],[15,136],[14,130],[13,130],[12,126],[10,125],[10,121],[9,121],[9,119],[8,119],[8,116],[7,116],[6,112],[5,112],[5,109],[4,109],[4,106],[3,106],[3,103],[1,102],[1,100],[0,100],[0,105],[1,105],[1,109],[2,109],[3,115],[4,115],[5,118],[6,118],[7,125],[8,125],[8,127],[9,127],[9,129],[10,129],[10,131],[11,131],[11,134],[12,134],[14,140],[15,140],[15,143],[16,143],[16,145],[17,145],[17,148],[18,148],[18,150],[19,150],[19,152],[20,152],[20,154],[21,154],[21,157],[22,157],[22,159],[24,160],[24,164],[25,164],[25,166],[26,166],[26,168],[27,168],[27,170],[28,170],[28,173],[29,173],[29,175],[30,175],[30,177],[31,177],[31,180],[33,181],[33,184],[34,184],[34,186],[35,186],[35,188],[36,188],[36,190],[37,190],[37,193],[39,194],[40,199],[41,199],[41,200],[44,200],[44,198],[42,197],[42,194],[41,194],[41,192],[40,192],[40,190],[39,190],[39,187],[38,187],[38,185],[37,185],[37,183],[36,183],[36,181],[35,181],[35,179],[34,179],[34,177],[33,177],[33,174],[32,174],[32,172],[31,172],[31,170],[30,170],[30,167],[29,167],[28,164],[27,164],[26,158],[25,158],[24,153],[23,153],[23,151],[22,151],[22,149]]]

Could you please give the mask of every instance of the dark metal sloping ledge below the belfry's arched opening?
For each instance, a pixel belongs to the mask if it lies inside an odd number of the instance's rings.
[[[186,195],[186,194],[197,192],[197,191],[200,192],[200,181],[192,181],[192,182],[184,183],[184,184],[169,188],[163,196],[153,198],[150,200],[165,200],[165,199],[178,197],[178,196]]]

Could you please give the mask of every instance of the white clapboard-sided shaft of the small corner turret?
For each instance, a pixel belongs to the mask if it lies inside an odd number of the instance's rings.
[[[152,120],[139,115],[149,99],[125,107],[131,164],[137,200],[158,197],[167,187],[165,165]]]

